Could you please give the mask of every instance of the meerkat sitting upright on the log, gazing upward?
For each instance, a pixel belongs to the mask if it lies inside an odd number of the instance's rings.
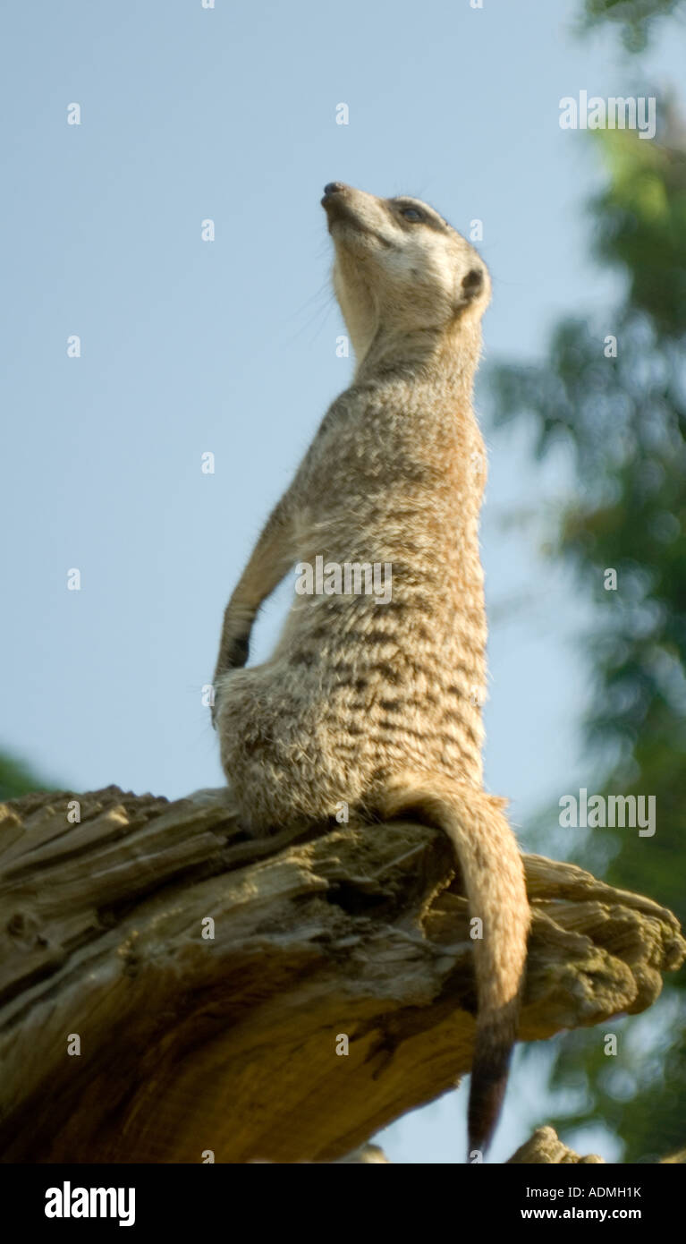
[[[483,1152],[507,1082],[529,927],[505,801],[482,781],[486,454],[471,397],[490,277],[425,203],[333,182],[322,204],[357,367],[226,607],[213,718],[250,833],[347,804],[373,819],[414,814],[451,840],[470,914],[482,921],[469,1144]],[[296,592],[271,658],[242,668],[262,601],[318,557],[324,575],[390,565],[389,598]]]

